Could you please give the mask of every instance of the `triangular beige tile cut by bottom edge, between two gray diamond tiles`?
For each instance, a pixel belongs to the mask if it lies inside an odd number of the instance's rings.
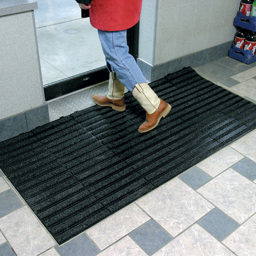
[[[210,236],[199,225],[187,229],[180,236],[169,242],[153,256],[231,256],[234,255],[224,245]]]

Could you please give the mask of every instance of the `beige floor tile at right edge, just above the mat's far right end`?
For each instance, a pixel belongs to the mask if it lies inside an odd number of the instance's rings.
[[[256,75],[255,70],[254,72]],[[236,86],[232,86],[230,90],[242,97],[246,96],[252,100],[256,100],[256,79],[251,78],[249,80],[241,82]]]

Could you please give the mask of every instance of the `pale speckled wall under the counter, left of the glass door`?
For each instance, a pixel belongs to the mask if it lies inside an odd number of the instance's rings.
[[[0,16],[0,119],[45,103],[33,11]]]

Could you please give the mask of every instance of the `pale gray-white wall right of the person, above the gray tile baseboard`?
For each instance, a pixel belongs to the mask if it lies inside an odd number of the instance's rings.
[[[139,58],[152,66],[234,38],[240,0],[143,0]]]

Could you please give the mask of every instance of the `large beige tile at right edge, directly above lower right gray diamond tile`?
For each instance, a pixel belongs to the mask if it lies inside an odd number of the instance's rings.
[[[256,211],[256,185],[231,168],[197,191],[240,224]]]

